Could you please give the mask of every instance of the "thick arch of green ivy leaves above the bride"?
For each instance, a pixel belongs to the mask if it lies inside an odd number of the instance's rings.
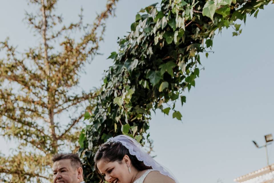
[[[167,115],[172,111],[173,118],[182,120],[175,101],[186,102],[183,93],[195,86],[202,69],[200,54],[208,56],[215,33],[233,27],[233,36],[239,35],[235,21],[256,17],[271,1],[162,0],[160,7],[156,3],[141,9],[129,35],[119,39],[118,53],[111,53],[114,65],[86,115],[91,125],[79,138],[86,182],[98,181],[93,158],[109,137],[126,134],[144,144],[156,109]]]

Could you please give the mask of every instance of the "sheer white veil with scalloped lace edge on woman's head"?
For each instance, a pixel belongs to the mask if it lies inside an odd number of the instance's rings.
[[[165,168],[164,166],[160,165],[156,162],[144,149],[142,146],[133,138],[127,135],[118,135],[116,137],[109,138],[106,143],[109,142],[118,142],[125,146],[131,155],[136,156],[139,161],[144,162],[146,166],[151,166],[152,169],[159,171],[161,174],[169,176],[172,178],[176,183],[179,181],[175,178],[175,176]]]

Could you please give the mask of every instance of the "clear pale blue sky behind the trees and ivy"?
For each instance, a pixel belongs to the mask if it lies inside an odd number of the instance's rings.
[[[104,69],[112,65],[109,53],[118,49],[118,36],[126,35],[136,13],[159,0],[120,0],[116,17],[107,22],[105,41],[100,52],[86,66],[80,87],[89,90],[102,83]],[[84,21],[91,22],[105,1],[60,0],[59,11],[65,22],[77,19],[81,5]],[[9,36],[19,50],[37,42],[22,23],[26,1],[2,1],[0,6],[0,40]],[[248,17],[240,36],[223,30],[213,41],[214,53],[206,59],[196,87],[186,92],[186,104],[178,102],[176,109],[182,121],[164,116],[160,111],[152,116],[150,134],[154,140],[156,160],[175,174],[180,182],[214,183],[233,179],[266,166],[264,149],[256,149],[251,140],[264,143],[264,135],[274,133],[274,5],[260,10],[257,19]],[[0,54],[1,55],[1,54]],[[2,56],[2,55],[1,55]],[[13,147],[0,140],[0,151]],[[270,163],[274,163],[273,145],[269,146]]]

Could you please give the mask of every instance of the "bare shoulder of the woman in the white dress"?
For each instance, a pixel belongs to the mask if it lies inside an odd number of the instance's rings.
[[[152,171],[146,176],[143,183],[175,183],[175,181],[159,171]]]

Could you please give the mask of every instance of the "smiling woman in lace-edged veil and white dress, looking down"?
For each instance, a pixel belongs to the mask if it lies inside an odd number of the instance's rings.
[[[94,157],[96,172],[110,183],[179,183],[174,175],[126,135],[111,137]]]

